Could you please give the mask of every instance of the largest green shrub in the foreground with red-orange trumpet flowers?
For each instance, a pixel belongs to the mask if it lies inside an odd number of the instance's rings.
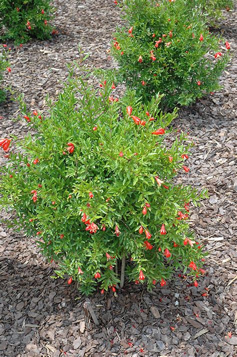
[[[38,134],[1,139],[1,204],[58,264],[56,276],[86,294],[122,286],[125,266],[129,281],[149,288],[177,268],[196,280],[204,254],[188,216],[205,190],[175,180],[189,174],[191,143],[167,128],[176,114],[159,111],[161,97],[117,100],[114,87],[70,78],[48,116],[24,108]],[[11,152],[16,145],[20,153]]]

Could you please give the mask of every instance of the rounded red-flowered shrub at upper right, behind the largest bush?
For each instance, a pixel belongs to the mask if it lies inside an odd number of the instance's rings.
[[[229,43],[220,46],[198,7],[189,0],[124,0],[122,9],[127,25],[117,28],[111,52],[118,80],[137,96],[164,93],[162,104],[172,108],[219,88]]]

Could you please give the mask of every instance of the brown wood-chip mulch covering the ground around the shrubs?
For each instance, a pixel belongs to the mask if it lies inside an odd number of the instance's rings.
[[[109,67],[106,49],[119,21],[111,0],[56,0],[59,35],[12,49],[7,83],[24,93],[29,109],[45,110],[45,94],[62,88],[66,63],[78,58],[77,44],[91,52],[87,61]],[[221,79],[223,90],[182,109],[174,126],[196,142],[189,183],[207,186],[210,198],[193,210],[197,239],[206,244],[207,274],[196,289],[183,278],[152,293],[128,285],[115,297],[91,297],[100,325],[84,328],[82,305],[73,284],[52,280],[53,266],[33,239],[0,226],[0,355],[2,356],[234,356],[236,265],[234,266],[234,118],[237,117],[237,13],[221,24],[231,43],[232,62]],[[234,43],[235,41],[235,43]],[[235,84],[234,84],[235,83]],[[23,135],[27,126],[12,121],[17,104],[0,107],[0,136]],[[4,164],[3,155],[0,163]],[[236,182],[235,182],[236,183]],[[1,213],[1,218],[11,214]],[[204,295],[203,295],[204,294]],[[78,298],[78,299],[76,299]],[[170,328],[172,327],[172,328]],[[232,332],[229,338],[227,332]]]

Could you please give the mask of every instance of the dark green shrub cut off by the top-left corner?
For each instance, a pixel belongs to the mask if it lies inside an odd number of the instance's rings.
[[[51,14],[49,0],[1,0],[1,39],[20,43],[30,37],[48,38],[52,31],[49,24]]]

